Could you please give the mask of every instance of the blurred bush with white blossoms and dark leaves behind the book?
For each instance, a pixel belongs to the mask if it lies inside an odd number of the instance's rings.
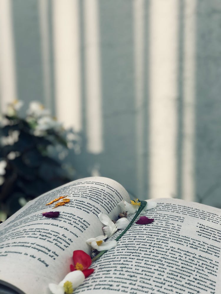
[[[0,125],[0,216],[5,218],[40,194],[73,180],[74,169],[62,160],[68,148],[79,150],[79,137],[32,101],[27,115],[22,101],[8,105]],[[67,171],[67,169],[69,169]],[[72,174],[70,176],[70,174]]]

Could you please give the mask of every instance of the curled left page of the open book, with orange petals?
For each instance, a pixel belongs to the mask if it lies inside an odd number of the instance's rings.
[[[65,206],[46,206],[67,196]],[[30,201],[0,225],[0,283],[26,294],[47,293],[48,283],[59,283],[70,272],[74,250],[90,254],[85,240],[103,235],[99,213],[116,219],[126,190],[108,178],[73,181]],[[59,211],[58,218],[43,212]],[[22,292],[21,292],[22,293]]]

